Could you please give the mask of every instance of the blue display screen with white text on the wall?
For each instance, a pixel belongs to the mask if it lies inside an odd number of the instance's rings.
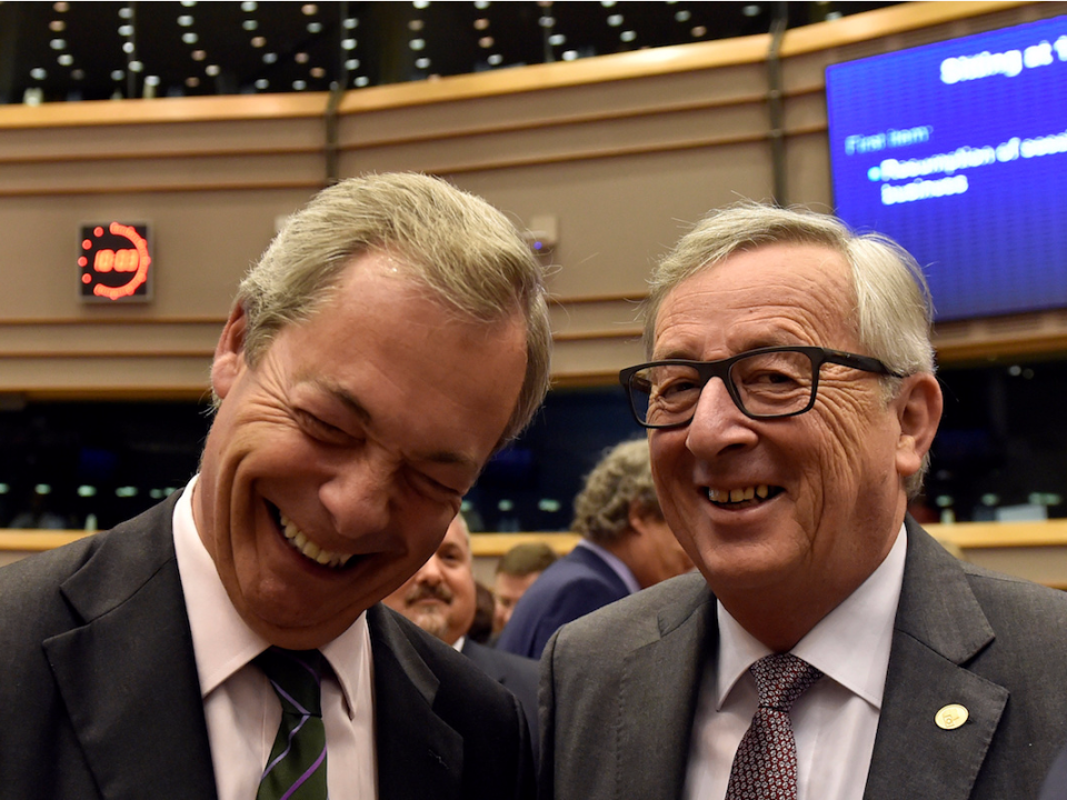
[[[923,266],[938,320],[1067,307],[1067,17],[826,71],[838,216]]]

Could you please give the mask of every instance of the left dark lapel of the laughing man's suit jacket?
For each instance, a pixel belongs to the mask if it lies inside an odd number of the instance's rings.
[[[174,497],[177,500],[177,497]],[[62,586],[84,624],[46,654],[102,797],[216,797],[171,536],[173,502],[113,531]]]

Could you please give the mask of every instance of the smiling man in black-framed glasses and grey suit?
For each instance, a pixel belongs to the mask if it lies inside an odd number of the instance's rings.
[[[906,252],[809,212],[712,213],[656,268],[620,381],[699,572],[549,642],[547,797],[1034,794],[1067,737],[1067,600],[907,514],[931,316]]]

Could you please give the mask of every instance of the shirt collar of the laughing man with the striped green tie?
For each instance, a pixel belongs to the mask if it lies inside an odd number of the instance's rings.
[[[215,561],[197,532],[192,517],[192,490],[197,478],[195,476],[189,481],[178,498],[173,529],[200,693],[206,698],[270,644],[252,631],[233,608]],[[366,629],[365,611],[347,631],[321,648],[340,683],[349,717],[353,714],[356,687],[361,670],[366,669],[365,660],[370,658],[363,647],[363,642],[369,641]]]

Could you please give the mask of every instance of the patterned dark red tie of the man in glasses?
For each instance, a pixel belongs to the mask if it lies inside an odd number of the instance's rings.
[[[789,709],[822,673],[791,653],[761,658],[749,671],[759,708],[734,756],[726,800],[797,800],[797,742]]]

